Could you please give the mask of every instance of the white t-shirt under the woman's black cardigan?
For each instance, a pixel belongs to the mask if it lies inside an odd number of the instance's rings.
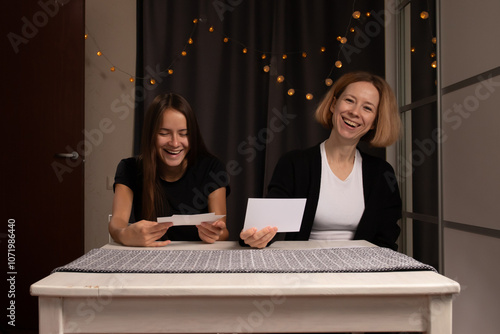
[[[361,154],[356,150],[351,174],[341,180],[328,165],[325,142],[320,150],[321,186],[309,239],[351,240],[365,210]]]

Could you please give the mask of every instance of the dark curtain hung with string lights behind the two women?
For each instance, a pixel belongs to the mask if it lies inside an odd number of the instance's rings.
[[[313,119],[329,88],[325,79],[353,70],[384,76],[383,5],[383,0],[138,0],[135,153],[153,98],[167,91],[184,96],[208,148],[227,166],[228,228],[236,239],[247,198],[265,195],[278,158],[328,137]],[[335,66],[338,60],[341,68]]]

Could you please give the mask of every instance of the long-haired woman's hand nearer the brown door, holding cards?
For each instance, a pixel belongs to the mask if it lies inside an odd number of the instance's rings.
[[[173,223],[157,223],[149,220],[141,220],[123,228],[118,234],[118,242],[125,246],[162,247],[170,243],[170,240],[156,241],[160,239],[172,226]]]

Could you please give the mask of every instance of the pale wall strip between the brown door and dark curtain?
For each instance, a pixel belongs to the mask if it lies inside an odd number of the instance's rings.
[[[86,0],[85,250],[108,241],[109,189],[120,159],[132,155],[136,1]],[[98,57],[97,51],[103,56]],[[111,72],[112,66],[116,67]],[[126,73],[122,73],[125,71]]]

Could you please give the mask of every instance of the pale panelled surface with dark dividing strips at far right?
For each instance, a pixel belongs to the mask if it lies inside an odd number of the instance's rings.
[[[499,11],[499,1],[441,0],[444,88],[500,66]],[[499,106],[500,76],[442,95],[444,273],[462,289],[455,334],[500,328]]]

